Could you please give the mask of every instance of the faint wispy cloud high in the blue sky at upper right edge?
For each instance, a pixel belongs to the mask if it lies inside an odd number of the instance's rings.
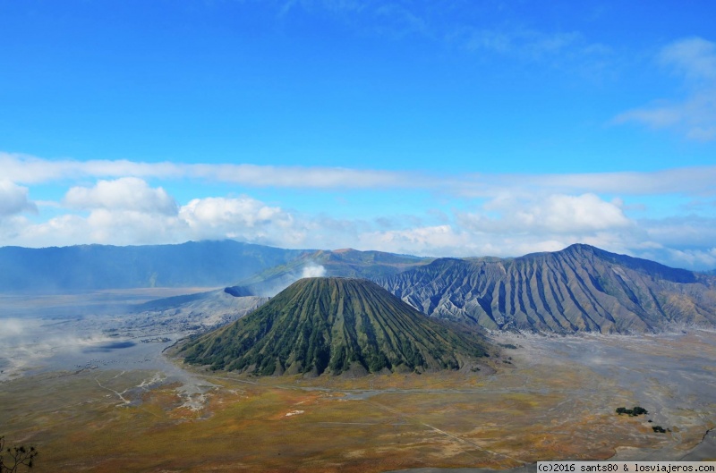
[[[687,139],[716,139],[716,43],[686,38],[665,46],[658,61],[686,81],[688,95],[681,101],[659,100],[628,110],[617,123],[637,122],[653,129],[672,129]]]

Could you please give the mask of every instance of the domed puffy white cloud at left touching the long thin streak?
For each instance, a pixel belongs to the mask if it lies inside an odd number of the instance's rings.
[[[92,188],[73,187],[64,196],[64,203],[82,209],[104,208],[148,214],[175,215],[177,211],[174,198],[164,189],[152,189],[136,177],[99,181]]]

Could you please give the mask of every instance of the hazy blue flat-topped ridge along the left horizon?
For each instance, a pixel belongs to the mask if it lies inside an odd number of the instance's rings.
[[[0,248],[0,291],[217,287],[300,257],[238,241],[180,245]]]

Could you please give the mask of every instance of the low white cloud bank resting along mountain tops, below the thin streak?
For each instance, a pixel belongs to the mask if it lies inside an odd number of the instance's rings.
[[[386,215],[388,217],[388,215]],[[426,222],[430,215],[423,215]],[[582,242],[670,266],[712,267],[716,224],[705,217],[631,221],[618,200],[593,194],[524,198],[506,193],[470,212],[441,214],[439,224],[393,226],[335,220],[269,206],[249,196],[197,198],[175,215],[93,208],[33,224],[15,216],[4,225],[4,244],[159,244],[234,238],[283,248],[379,249],[434,257],[512,257],[554,251]],[[312,271],[312,270],[311,270]],[[311,272],[311,274],[316,274]]]

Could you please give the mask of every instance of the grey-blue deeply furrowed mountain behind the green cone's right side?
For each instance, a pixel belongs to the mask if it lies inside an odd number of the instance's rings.
[[[716,325],[716,278],[572,245],[521,258],[441,258],[377,280],[431,317],[489,329],[654,332]]]

